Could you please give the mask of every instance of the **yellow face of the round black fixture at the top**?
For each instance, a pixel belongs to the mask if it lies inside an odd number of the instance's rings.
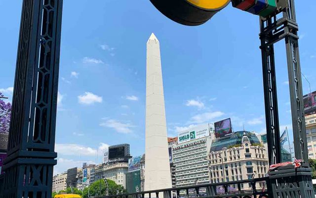
[[[231,0],[187,0],[187,1],[202,9],[218,10],[227,6]]]

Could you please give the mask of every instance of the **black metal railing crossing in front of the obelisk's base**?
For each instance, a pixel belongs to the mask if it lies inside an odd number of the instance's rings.
[[[262,187],[258,187],[258,184]],[[144,191],[123,195],[112,195],[99,198],[272,198],[267,191],[269,177],[186,186],[155,191]],[[236,188],[233,188],[235,186]],[[242,188],[244,187],[244,188]],[[248,188],[249,187],[249,188]],[[243,190],[249,189],[249,190]]]

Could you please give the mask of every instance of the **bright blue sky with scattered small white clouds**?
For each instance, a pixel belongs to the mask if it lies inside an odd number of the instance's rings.
[[[0,0],[0,90],[12,97],[20,0]],[[302,72],[316,90],[316,1],[296,0]],[[100,162],[108,145],[128,143],[144,153],[146,42],[161,50],[169,136],[190,125],[231,117],[234,130],[265,132],[259,19],[231,4],[206,24],[186,27],[149,0],[64,0],[58,165],[54,172]],[[281,130],[291,130],[285,45],[275,46]],[[304,94],[309,85],[303,79]],[[292,135],[290,135],[292,136]]]

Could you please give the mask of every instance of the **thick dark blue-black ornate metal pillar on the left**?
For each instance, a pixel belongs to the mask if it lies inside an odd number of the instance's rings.
[[[62,0],[23,0],[2,198],[50,198]]]

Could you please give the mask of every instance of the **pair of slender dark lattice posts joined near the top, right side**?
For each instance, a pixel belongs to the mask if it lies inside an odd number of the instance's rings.
[[[263,84],[266,109],[269,163],[281,162],[280,132],[277,112],[276,70],[274,44],[285,39],[287,67],[292,110],[295,157],[308,161],[306,129],[302,92],[302,79],[298,51],[298,25],[295,18],[294,0],[286,0],[287,6],[276,19],[260,18]]]

